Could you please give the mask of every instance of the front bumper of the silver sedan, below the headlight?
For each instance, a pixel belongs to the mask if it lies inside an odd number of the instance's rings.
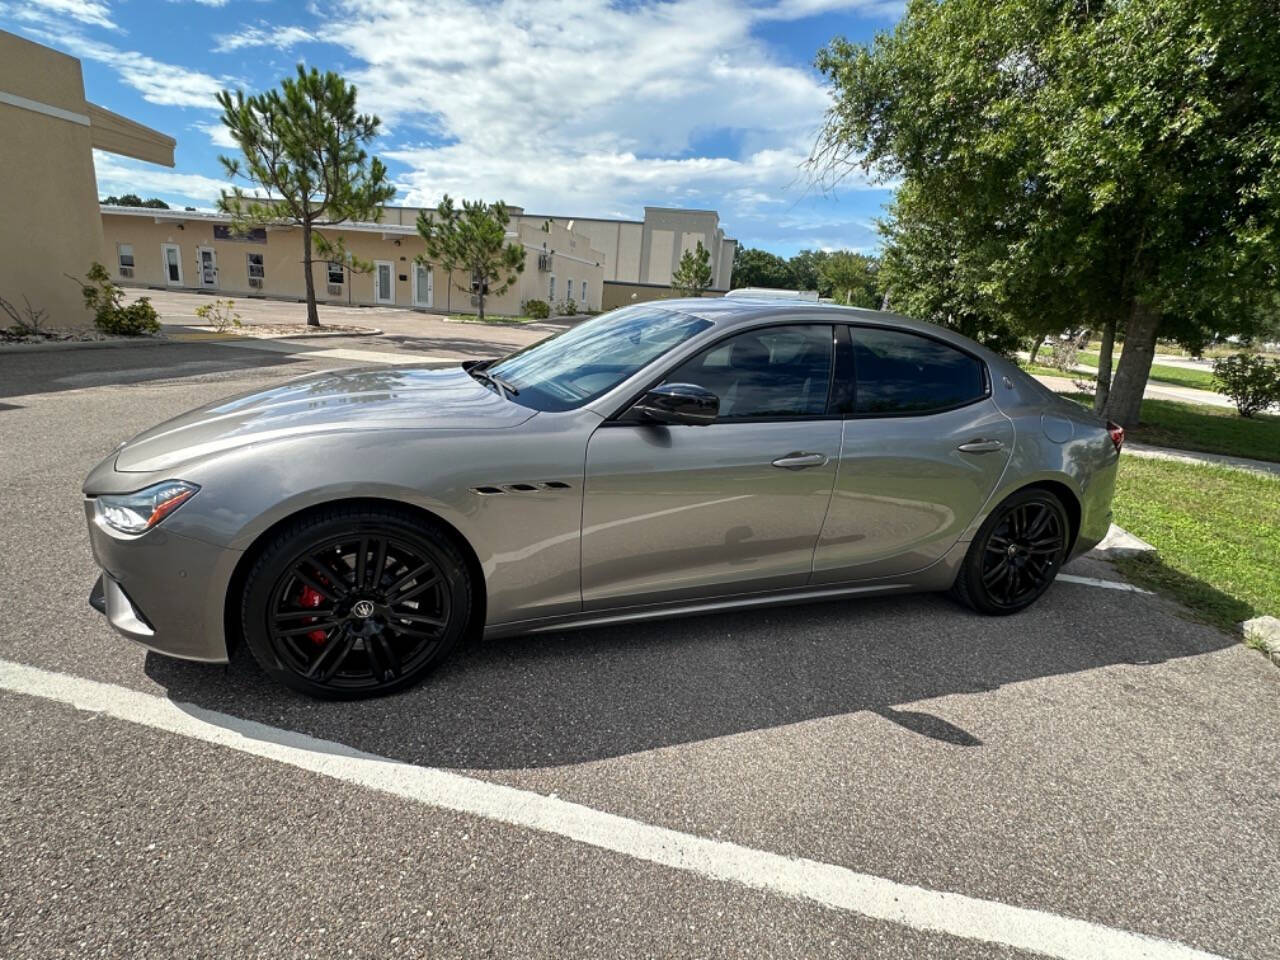
[[[227,662],[224,605],[239,552],[165,532],[122,539],[84,500],[93,559],[102,568],[90,605],[122,636],[169,657]]]

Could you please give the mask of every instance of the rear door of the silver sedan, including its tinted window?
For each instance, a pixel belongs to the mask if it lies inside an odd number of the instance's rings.
[[[836,390],[847,417],[814,582],[891,577],[942,557],[1009,465],[1014,425],[986,364],[900,329],[842,332]]]

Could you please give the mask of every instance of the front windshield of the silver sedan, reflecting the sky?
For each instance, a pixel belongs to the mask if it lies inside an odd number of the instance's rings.
[[[484,369],[526,407],[561,411],[607,393],[672,347],[710,326],[709,320],[643,303],[579,324]]]

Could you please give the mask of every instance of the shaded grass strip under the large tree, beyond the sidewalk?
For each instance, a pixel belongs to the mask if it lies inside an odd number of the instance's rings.
[[[1093,403],[1093,397],[1087,393],[1062,396],[1084,406]],[[1125,434],[1130,440],[1153,447],[1224,453],[1229,457],[1280,463],[1280,416],[1270,413],[1257,413],[1249,419],[1242,417],[1231,407],[1144,399],[1142,424]]]

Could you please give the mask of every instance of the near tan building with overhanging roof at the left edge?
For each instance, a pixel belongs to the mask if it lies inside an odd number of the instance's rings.
[[[0,297],[50,328],[92,323],[68,275],[102,260],[95,148],[173,166],[172,137],[84,100],[79,60],[0,31]]]

